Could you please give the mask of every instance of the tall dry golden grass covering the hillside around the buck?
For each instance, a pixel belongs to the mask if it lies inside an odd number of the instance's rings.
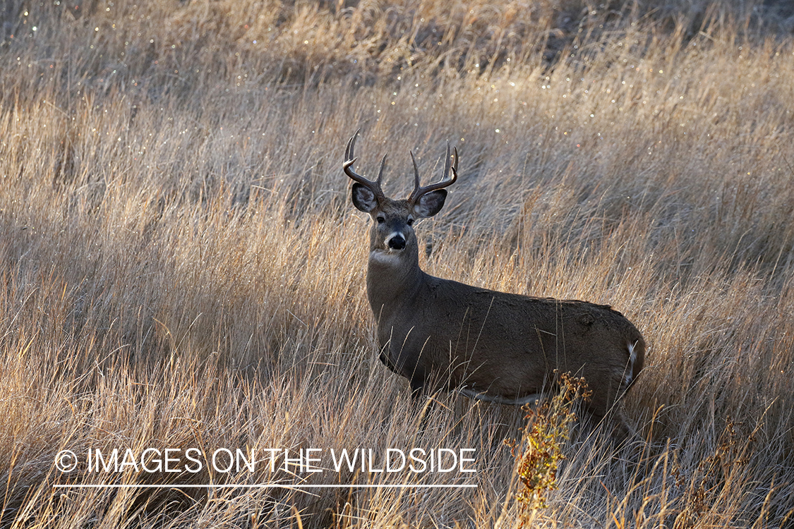
[[[4,2],[0,527],[792,527],[788,2]],[[642,439],[564,439],[521,512],[522,412],[377,359],[357,170],[461,155],[430,274],[608,303]],[[58,472],[62,449],[476,448],[459,475]],[[514,485],[511,485],[511,481]]]

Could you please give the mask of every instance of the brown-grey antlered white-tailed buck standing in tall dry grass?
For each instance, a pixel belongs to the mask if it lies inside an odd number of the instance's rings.
[[[380,361],[422,389],[457,389],[498,404],[533,404],[562,373],[584,377],[592,392],[588,412],[602,420],[637,380],[646,343],[634,324],[610,305],[532,297],[470,286],[426,274],[419,267],[414,223],[434,217],[457,181],[458,155],[446,148],[441,179],[395,200],[376,180],[353,171],[357,131],[342,167],[353,180],[353,205],[372,218],[367,297],[376,320]],[[451,177],[449,176],[452,173]],[[622,426],[627,427],[622,411]]]

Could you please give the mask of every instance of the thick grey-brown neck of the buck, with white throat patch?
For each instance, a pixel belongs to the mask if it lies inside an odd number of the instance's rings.
[[[426,274],[419,268],[416,245],[400,252],[370,251],[367,265],[367,297],[372,312],[388,317],[416,297]]]

